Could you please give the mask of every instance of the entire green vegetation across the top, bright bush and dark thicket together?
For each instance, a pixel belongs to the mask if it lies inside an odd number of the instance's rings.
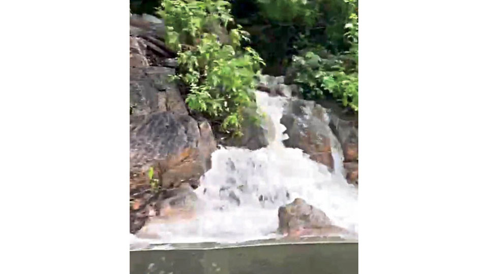
[[[224,131],[239,134],[245,119],[256,118],[261,69],[289,74],[308,99],[358,110],[357,0],[139,2],[133,11],[145,7],[165,20],[188,106]]]

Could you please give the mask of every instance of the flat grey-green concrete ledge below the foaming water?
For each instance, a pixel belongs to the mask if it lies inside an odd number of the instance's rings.
[[[353,274],[357,242],[302,242],[235,247],[137,250],[131,273],[157,274]]]

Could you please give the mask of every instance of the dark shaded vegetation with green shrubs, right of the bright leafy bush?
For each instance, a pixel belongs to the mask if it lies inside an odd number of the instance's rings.
[[[236,21],[249,28],[266,73],[292,72],[304,97],[334,98],[358,110],[357,0],[235,2]]]

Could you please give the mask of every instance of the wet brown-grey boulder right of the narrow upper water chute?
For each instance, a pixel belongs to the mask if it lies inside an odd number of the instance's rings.
[[[333,152],[342,154],[341,144],[329,127],[327,109],[313,101],[293,98],[288,100],[281,123],[289,138],[286,147],[299,148],[310,158],[334,170]]]

